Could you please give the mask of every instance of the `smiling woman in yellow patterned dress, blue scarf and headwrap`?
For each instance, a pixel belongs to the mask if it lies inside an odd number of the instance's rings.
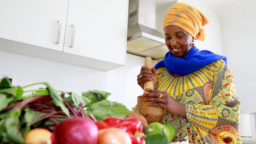
[[[165,15],[163,30],[169,52],[154,68],[145,66],[137,77],[149,106],[165,109],[162,123],[175,127],[174,141],[188,135],[190,143],[241,143],[239,107],[233,76],[226,57],[199,51],[195,39],[204,40],[202,26],[209,22],[195,7],[178,3]],[[136,111],[136,107],[134,109]]]

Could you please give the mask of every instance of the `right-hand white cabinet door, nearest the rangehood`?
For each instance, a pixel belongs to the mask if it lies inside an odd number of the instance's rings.
[[[124,65],[127,10],[128,0],[69,0],[64,52]]]

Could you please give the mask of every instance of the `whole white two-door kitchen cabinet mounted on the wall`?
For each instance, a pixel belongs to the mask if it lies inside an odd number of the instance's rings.
[[[127,13],[128,0],[0,0],[0,51],[111,70],[125,65]]]

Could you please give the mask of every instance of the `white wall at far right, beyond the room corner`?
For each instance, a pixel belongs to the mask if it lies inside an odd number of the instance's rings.
[[[223,53],[234,75],[241,110],[256,113],[256,0],[239,0],[217,10]]]

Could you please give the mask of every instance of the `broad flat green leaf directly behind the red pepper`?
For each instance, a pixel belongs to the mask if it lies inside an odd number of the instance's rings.
[[[111,102],[109,100],[93,103],[87,109],[87,115],[93,114],[93,116],[100,121],[109,116],[124,118],[128,113],[131,113],[131,111],[129,111],[124,105],[118,102]]]

